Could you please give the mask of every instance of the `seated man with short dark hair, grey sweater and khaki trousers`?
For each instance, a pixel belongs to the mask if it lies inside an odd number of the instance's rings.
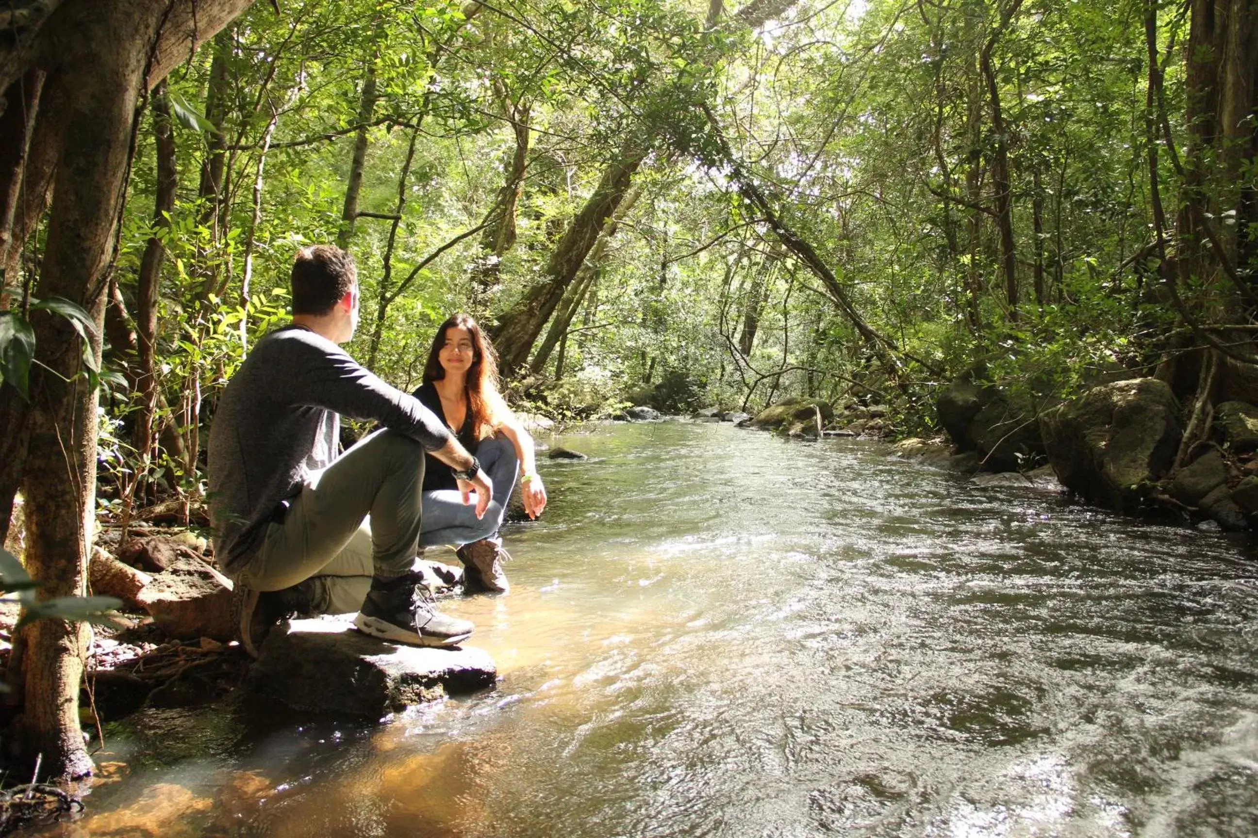
[[[464,503],[476,492],[478,518],[493,484],[431,411],[337,346],[359,322],[350,254],[302,249],[292,308],[292,324],[259,340],[228,382],[210,430],[214,549],[240,590],[240,639],[255,653],[255,629],[287,612],[357,611],[369,634],[457,645],[474,626],[433,607],[415,560],[424,452],[455,471]],[[342,413],[385,430],[337,457]],[[337,585],[336,567],[370,568],[370,584]]]

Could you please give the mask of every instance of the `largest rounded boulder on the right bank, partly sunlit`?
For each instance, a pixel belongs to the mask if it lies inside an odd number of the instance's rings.
[[[1183,432],[1175,395],[1156,378],[1093,387],[1045,411],[1040,431],[1062,485],[1127,513],[1170,469]]]

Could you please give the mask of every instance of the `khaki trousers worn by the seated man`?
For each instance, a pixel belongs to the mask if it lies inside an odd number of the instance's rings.
[[[316,585],[312,604],[325,613],[357,611],[372,575],[399,577],[414,568],[423,485],[419,442],[392,431],[365,437],[288,501],[238,582],[281,590],[314,575],[340,577],[352,584]]]

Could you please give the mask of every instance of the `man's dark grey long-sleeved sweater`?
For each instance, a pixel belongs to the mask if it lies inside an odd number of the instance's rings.
[[[228,382],[209,449],[214,553],[228,575],[258,549],[281,501],[336,459],[342,413],[375,420],[428,451],[450,438],[416,398],[304,327],[264,337]]]

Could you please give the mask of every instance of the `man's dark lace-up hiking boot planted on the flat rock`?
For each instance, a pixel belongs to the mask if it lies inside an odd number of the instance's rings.
[[[372,579],[353,624],[365,634],[411,646],[457,646],[476,628],[437,611],[420,573]]]

